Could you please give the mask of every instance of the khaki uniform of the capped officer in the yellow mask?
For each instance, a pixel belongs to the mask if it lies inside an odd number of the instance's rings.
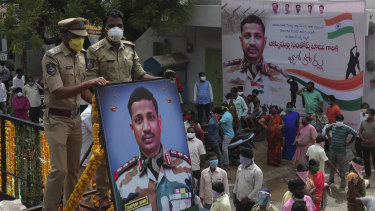
[[[43,123],[51,154],[51,171],[43,199],[43,210],[58,210],[61,191],[64,202],[78,181],[82,127],[79,107],[81,96],[57,99],[52,93],[82,82],[85,71],[83,53],[73,53],[63,43],[46,52],[42,60],[46,105]],[[65,110],[71,116],[51,114],[50,110]]]

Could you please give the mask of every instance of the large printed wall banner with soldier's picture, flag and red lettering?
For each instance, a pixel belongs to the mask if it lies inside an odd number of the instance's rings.
[[[359,123],[365,69],[365,2],[223,0],[224,93],[259,90],[262,104],[285,107],[315,83],[353,127]],[[324,107],[327,105],[324,103]]]

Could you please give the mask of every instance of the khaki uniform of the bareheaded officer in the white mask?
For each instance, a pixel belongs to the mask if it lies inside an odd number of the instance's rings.
[[[120,83],[138,80],[146,74],[134,51],[134,44],[128,41],[121,41],[116,51],[113,45],[104,38],[88,48],[87,57],[86,80],[104,77],[110,83]],[[93,119],[93,123],[99,123],[99,121]],[[101,163],[95,176],[98,199],[108,196],[109,189],[105,158]]]

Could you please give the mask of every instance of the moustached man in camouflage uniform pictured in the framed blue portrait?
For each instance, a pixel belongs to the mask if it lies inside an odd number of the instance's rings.
[[[124,210],[153,211],[191,207],[194,194],[190,159],[163,147],[162,118],[153,94],[144,87],[136,88],[130,95],[128,110],[140,152],[114,172],[115,192],[120,198],[116,205]]]

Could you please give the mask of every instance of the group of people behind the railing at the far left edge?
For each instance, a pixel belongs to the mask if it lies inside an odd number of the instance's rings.
[[[22,69],[16,69],[16,76],[10,81],[11,74],[5,64],[0,62],[0,110],[39,124],[43,87],[31,76],[25,81]]]

